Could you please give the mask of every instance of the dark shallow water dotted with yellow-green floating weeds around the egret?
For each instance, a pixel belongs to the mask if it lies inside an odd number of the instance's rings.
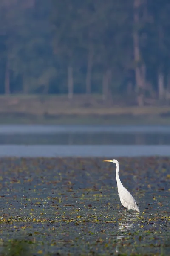
[[[115,165],[102,160],[0,159],[1,244],[24,238],[34,255],[168,255],[170,158],[118,159],[139,214],[124,212]]]

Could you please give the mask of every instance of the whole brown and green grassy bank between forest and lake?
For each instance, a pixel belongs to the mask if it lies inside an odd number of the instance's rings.
[[[0,96],[0,124],[170,125],[170,106],[126,106],[115,96]]]

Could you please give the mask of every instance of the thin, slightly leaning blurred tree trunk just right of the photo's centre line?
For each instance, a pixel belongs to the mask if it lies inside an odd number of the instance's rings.
[[[91,70],[93,66],[93,47],[89,44],[88,49],[88,62],[87,62],[87,75],[86,75],[86,94],[91,94]]]

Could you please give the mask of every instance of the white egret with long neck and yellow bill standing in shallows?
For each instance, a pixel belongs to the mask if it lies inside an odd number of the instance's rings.
[[[122,182],[120,181],[119,178],[119,162],[116,159],[112,160],[104,160],[103,162],[110,162],[110,163],[115,163],[116,164],[116,181],[117,181],[117,190],[119,194],[120,201],[122,205],[128,210],[134,210],[137,212],[140,212],[139,207],[136,204],[135,199],[133,196],[130,194],[130,192],[122,185]]]

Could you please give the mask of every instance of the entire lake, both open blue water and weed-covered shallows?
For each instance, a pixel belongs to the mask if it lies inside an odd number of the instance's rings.
[[[0,126],[1,255],[168,255],[170,158],[146,155],[170,156],[169,127]]]

